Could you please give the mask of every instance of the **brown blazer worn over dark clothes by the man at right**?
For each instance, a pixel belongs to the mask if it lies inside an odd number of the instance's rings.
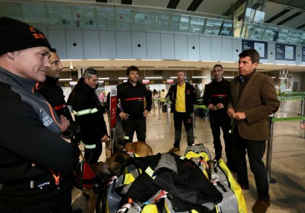
[[[239,84],[238,76],[231,83],[228,109],[232,108],[234,112],[245,112],[246,119],[239,121],[233,119],[232,127],[234,128],[234,124],[237,122],[238,131],[242,138],[268,140],[267,117],[276,113],[280,107],[273,80],[266,75],[255,72],[243,89],[240,99],[238,99]]]

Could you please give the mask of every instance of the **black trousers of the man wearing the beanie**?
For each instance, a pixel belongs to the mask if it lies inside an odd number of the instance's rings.
[[[71,189],[45,202],[30,205],[12,205],[0,201],[0,212],[2,213],[69,213],[71,208]]]

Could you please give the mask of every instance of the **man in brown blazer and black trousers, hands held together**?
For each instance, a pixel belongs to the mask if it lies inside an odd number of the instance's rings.
[[[269,185],[262,161],[269,139],[267,117],[279,109],[280,101],[273,80],[256,72],[259,54],[254,49],[239,54],[240,75],[231,82],[228,115],[233,118],[233,157],[237,179],[242,189],[249,189],[246,153],[257,188],[258,199],[253,212],[266,212],[270,205]],[[247,150],[247,152],[246,152]]]

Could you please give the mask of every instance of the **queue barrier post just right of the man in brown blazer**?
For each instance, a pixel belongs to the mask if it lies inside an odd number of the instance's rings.
[[[271,157],[272,157],[272,140],[273,140],[273,126],[274,123],[272,121],[272,118],[274,118],[275,115],[271,115],[268,117],[269,121],[269,130],[270,130],[270,138],[267,142],[267,159],[266,159],[266,171],[267,171],[267,177],[268,177],[268,183],[270,185],[276,184],[277,180],[271,177]]]

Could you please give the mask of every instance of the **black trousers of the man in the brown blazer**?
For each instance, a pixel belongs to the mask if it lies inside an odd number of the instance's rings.
[[[247,152],[246,152],[247,150]],[[262,161],[266,150],[265,140],[248,140],[242,138],[238,132],[237,124],[233,131],[233,156],[237,164],[237,179],[242,184],[249,184],[246,154],[254,174],[258,198],[269,199],[269,184],[265,164]]]

